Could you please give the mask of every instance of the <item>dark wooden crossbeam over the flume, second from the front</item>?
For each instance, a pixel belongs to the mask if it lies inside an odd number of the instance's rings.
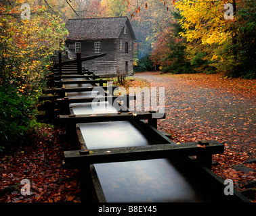
[[[78,124],[87,122],[103,121],[132,121],[140,119],[163,119],[165,113],[150,112],[129,112],[129,113],[104,113],[104,114],[87,114],[87,115],[59,115],[60,124]]]

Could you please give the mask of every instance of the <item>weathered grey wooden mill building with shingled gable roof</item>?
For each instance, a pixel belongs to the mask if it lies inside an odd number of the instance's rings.
[[[133,41],[135,34],[127,17],[70,19],[66,22],[66,55],[76,58],[106,53],[83,62],[83,67],[100,76],[133,73]]]

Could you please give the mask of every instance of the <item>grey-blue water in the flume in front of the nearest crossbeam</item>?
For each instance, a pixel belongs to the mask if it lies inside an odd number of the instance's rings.
[[[193,188],[167,161],[95,164],[107,202],[196,202]]]

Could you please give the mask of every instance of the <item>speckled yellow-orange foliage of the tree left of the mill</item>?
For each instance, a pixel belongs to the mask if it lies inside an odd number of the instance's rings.
[[[18,1],[12,7],[0,4],[0,12],[18,14],[20,5]],[[68,33],[62,20],[51,16],[46,7],[31,4],[30,8],[33,11],[30,20],[20,20],[12,15],[0,16],[0,59],[5,59],[6,64],[3,78],[18,80],[16,83],[20,86],[26,84],[26,93],[41,82],[43,74],[38,72],[47,61],[45,57],[62,49]],[[22,87],[20,92],[24,92]]]

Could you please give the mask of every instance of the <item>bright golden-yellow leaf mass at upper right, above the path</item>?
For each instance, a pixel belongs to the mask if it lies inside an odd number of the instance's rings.
[[[177,1],[176,7],[184,17],[180,23],[186,32],[182,36],[188,42],[200,39],[202,44],[224,43],[231,38],[230,32],[225,28],[226,20],[223,19],[223,1],[191,0]]]

